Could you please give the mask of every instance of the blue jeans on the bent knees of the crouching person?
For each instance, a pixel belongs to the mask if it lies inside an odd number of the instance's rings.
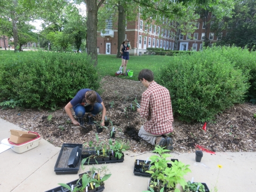
[[[79,117],[83,117],[85,113],[91,113],[94,117],[99,114],[103,107],[100,103],[95,102],[93,106],[82,106],[81,104],[77,104],[76,106],[73,107],[75,111],[75,115]]]

